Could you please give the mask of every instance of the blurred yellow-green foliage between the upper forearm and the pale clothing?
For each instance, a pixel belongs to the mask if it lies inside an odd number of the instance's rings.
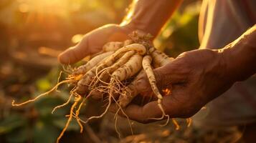
[[[197,49],[199,47],[197,27],[200,6],[200,1],[196,1],[182,11],[176,11],[162,29],[161,34],[156,37],[155,46],[172,57],[184,51]]]

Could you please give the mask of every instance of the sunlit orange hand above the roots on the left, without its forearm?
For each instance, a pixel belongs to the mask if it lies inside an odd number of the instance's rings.
[[[58,59],[62,64],[72,64],[87,55],[99,52],[108,41],[123,41],[128,39],[132,29],[128,26],[108,24],[85,34],[82,41],[62,52]]]

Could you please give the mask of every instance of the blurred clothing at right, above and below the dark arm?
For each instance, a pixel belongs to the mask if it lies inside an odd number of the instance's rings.
[[[255,23],[255,0],[204,0],[199,16],[200,49],[222,48]],[[206,107],[194,115],[195,125],[217,127],[256,122],[256,76],[235,83]]]

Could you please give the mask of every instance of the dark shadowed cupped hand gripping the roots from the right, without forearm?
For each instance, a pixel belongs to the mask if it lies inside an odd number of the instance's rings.
[[[172,117],[191,117],[207,102],[225,92],[234,82],[229,79],[224,58],[219,51],[198,49],[179,55],[174,61],[154,69],[159,89],[171,85],[171,95],[164,96],[162,105],[166,114]],[[136,81],[136,90],[143,93],[151,92],[146,74]],[[115,112],[116,106],[111,109]],[[143,106],[130,104],[124,109],[130,119],[148,123],[161,117],[162,112],[157,101]]]

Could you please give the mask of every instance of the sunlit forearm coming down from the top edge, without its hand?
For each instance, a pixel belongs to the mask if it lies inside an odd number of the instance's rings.
[[[182,0],[138,0],[121,25],[155,37]]]

